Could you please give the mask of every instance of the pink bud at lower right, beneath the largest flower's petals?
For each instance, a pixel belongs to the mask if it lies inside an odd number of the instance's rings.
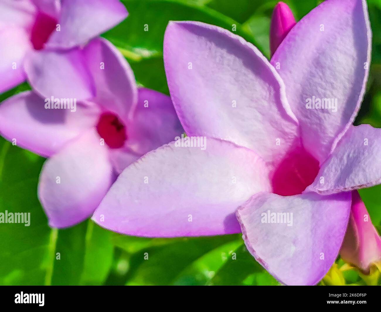
[[[373,264],[381,264],[381,238],[357,190],[352,191],[351,216],[340,256],[368,274]]]

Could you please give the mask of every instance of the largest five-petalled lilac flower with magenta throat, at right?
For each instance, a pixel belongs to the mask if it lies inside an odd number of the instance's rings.
[[[149,237],[242,230],[248,250],[278,280],[316,284],[343,242],[348,191],[381,179],[380,130],[352,126],[370,46],[361,0],[323,2],[291,29],[271,63],[227,30],[170,22],[171,98],[187,135],[207,136],[207,148],[172,142],[146,154],[120,174],[93,220]]]

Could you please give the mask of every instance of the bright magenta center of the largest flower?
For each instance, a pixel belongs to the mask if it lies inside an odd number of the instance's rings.
[[[290,152],[272,176],[272,191],[282,196],[301,194],[314,182],[319,162],[303,148]]]

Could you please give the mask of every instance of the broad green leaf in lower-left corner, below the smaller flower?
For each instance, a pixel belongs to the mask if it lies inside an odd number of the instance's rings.
[[[48,226],[37,198],[43,162],[0,138],[0,213],[30,213],[29,226],[0,223],[0,285],[102,283],[112,264],[111,233],[91,221],[64,230]]]

